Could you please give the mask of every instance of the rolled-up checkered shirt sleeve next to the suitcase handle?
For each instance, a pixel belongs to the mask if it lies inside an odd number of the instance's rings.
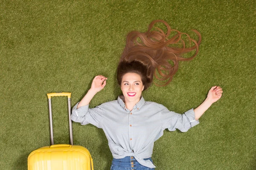
[[[96,127],[102,128],[100,125],[103,113],[102,108],[100,108],[100,106],[89,108],[89,105],[77,108],[78,104],[79,102],[72,109],[71,120],[79,122],[81,125],[92,124]]]

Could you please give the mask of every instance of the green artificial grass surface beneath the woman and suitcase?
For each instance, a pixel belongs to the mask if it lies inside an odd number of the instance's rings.
[[[173,81],[143,92],[145,100],[183,113],[209,88],[223,96],[187,133],[165,131],[155,142],[157,170],[256,169],[256,6],[251,0],[0,1],[0,169],[26,170],[29,153],[47,146],[47,93],[71,92],[72,106],[93,77],[108,77],[90,107],[117,98],[116,66],[129,31],[152,20],[202,35],[199,54],[180,62]],[[164,28],[163,28],[164,29]],[[55,144],[68,143],[67,99],[52,98]],[[112,155],[102,129],[73,123],[74,144],[86,147],[95,170]]]

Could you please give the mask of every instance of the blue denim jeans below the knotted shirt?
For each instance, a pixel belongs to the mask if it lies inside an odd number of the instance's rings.
[[[150,160],[151,158],[147,158],[144,160]],[[154,170],[154,168],[145,167],[134,158],[134,156],[126,156],[122,159],[113,158],[112,165],[110,167],[111,170]]]

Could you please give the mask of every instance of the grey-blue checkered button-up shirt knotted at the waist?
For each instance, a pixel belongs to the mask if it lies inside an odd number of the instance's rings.
[[[142,96],[132,111],[125,108],[124,96],[95,108],[85,105],[77,109],[78,104],[72,110],[71,119],[81,125],[102,128],[115,159],[134,156],[140,164],[150,168],[154,168],[154,164],[144,159],[151,157],[154,142],[163,136],[163,130],[186,132],[199,124],[193,108],[179,114],[156,102],[145,102]]]

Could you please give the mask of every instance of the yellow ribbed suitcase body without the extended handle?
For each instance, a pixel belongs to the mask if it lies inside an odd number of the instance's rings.
[[[93,170],[93,160],[85,147],[41,147],[29,155],[28,170]]]

